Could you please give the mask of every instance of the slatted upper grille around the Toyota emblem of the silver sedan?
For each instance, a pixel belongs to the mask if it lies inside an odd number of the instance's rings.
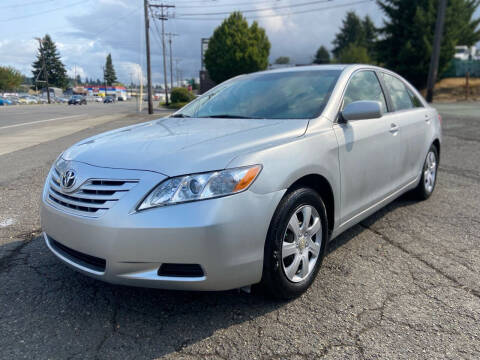
[[[138,180],[90,179],[74,192],[60,185],[60,173],[54,169],[50,177],[48,200],[70,212],[99,217],[130,191]]]

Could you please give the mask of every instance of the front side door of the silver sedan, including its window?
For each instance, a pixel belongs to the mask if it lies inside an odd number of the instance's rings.
[[[354,101],[386,99],[375,71],[355,72],[346,87],[342,109]],[[339,145],[342,223],[383,199],[392,189],[391,135],[385,116],[354,120],[333,126]]]

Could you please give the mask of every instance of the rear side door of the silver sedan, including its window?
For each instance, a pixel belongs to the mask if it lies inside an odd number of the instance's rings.
[[[395,189],[413,181],[423,163],[427,109],[407,84],[393,74],[381,73],[392,112],[385,116],[394,149],[390,181]]]

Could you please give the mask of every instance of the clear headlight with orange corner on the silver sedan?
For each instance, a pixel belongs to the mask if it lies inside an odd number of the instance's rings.
[[[155,187],[137,210],[236,194],[248,189],[261,170],[261,165],[253,165],[170,178]]]

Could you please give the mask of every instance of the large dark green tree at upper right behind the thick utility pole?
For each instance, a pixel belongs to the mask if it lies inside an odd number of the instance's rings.
[[[386,15],[378,42],[378,59],[413,85],[424,88],[432,54],[437,16],[436,0],[377,0]],[[480,19],[473,19],[480,0],[449,0],[438,76],[448,68],[456,45],[480,40]]]

